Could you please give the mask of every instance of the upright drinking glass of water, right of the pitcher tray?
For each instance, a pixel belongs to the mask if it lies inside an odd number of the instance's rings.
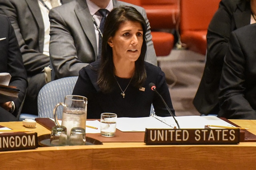
[[[104,137],[113,137],[116,134],[115,113],[101,113],[100,115],[100,134]]]

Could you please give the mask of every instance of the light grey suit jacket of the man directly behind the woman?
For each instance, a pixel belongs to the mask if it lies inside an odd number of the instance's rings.
[[[146,61],[157,64],[153,47],[150,25],[143,8],[125,2],[113,0],[113,6],[134,6],[145,18],[148,25],[146,32]],[[50,10],[50,59],[56,78],[78,76],[79,70],[88,63],[96,61],[98,48],[94,23],[86,0],[76,0]]]

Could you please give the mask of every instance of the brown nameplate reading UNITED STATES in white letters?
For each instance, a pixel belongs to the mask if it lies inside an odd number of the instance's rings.
[[[146,145],[235,145],[240,129],[146,129]]]

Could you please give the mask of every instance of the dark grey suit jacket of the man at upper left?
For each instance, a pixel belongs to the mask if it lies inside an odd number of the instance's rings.
[[[28,76],[49,66],[50,58],[43,54],[44,22],[38,0],[1,0],[0,13],[8,16],[14,27]]]

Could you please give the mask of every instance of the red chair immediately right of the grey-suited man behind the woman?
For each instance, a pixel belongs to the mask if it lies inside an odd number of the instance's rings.
[[[152,30],[175,29],[178,21],[178,0],[140,0],[146,10]],[[174,36],[171,33],[152,31],[152,41],[156,56],[167,56],[174,45]]]

